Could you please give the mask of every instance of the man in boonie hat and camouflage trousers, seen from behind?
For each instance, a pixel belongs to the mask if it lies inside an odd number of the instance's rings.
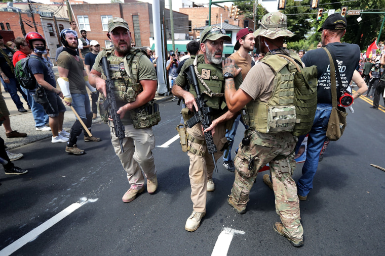
[[[297,138],[291,134],[295,124],[293,74],[295,65],[285,55],[301,64],[294,52],[283,48],[285,36],[294,34],[287,30],[287,18],[279,12],[269,13],[259,21],[254,33],[256,44],[265,57],[250,70],[240,88],[233,78],[225,80],[225,98],[232,113],[241,111],[250,129],[239,144],[234,159],[236,172],[232,194],[228,203],[237,213],[246,212],[250,190],[260,168],[267,163],[273,180],[276,212],[282,223],[274,229],[285,236],[293,246],[303,244],[303,229],[299,216],[297,187],[291,175],[295,169],[294,148]],[[226,59],[223,73],[236,76],[239,69],[234,60]],[[294,113],[294,115],[293,115]],[[278,120],[278,122],[277,122]],[[272,125],[275,123],[276,125]]]

